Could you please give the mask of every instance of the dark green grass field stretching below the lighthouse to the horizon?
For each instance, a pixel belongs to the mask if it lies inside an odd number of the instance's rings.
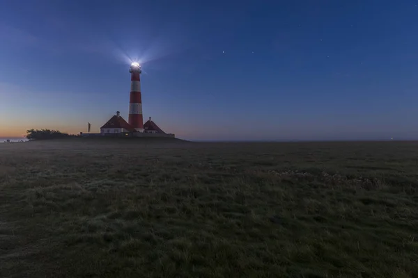
[[[0,277],[418,277],[418,142],[0,144]]]

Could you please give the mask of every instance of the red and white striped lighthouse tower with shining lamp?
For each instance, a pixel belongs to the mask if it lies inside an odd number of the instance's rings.
[[[131,91],[129,98],[129,118],[127,122],[134,127],[136,131],[144,132],[144,122],[142,119],[142,101],[141,101],[141,65],[132,63],[131,74]]]

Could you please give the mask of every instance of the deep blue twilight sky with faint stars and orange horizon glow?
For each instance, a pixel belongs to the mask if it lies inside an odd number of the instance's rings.
[[[418,0],[0,0],[0,137],[144,120],[191,140],[418,139]]]

